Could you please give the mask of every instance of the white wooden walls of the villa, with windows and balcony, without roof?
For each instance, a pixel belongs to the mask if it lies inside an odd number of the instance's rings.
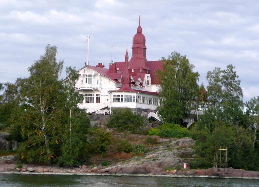
[[[131,87],[135,92],[116,92],[121,87],[119,81],[120,79],[116,82],[108,78],[92,69],[91,66],[85,66],[79,70],[79,79],[75,88],[79,93],[84,94],[84,102],[83,104],[78,104],[78,106],[81,109],[91,109],[87,110],[87,112],[91,113],[105,107],[156,110],[159,104],[157,94],[159,85],[151,84],[150,74],[145,75],[143,83],[140,78],[137,84],[132,83]],[[145,91],[149,93],[143,93]],[[150,92],[154,94],[150,94]]]

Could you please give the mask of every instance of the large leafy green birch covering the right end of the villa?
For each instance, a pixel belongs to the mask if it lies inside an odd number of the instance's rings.
[[[181,123],[184,115],[189,114],[191,102],[197,97],[199,73],[193,72],[194,65],[186,56],[177,52],[161,59],[163,70],[156,71],[156,81],[162,89],[159,94],[158,114],[163,123]]]

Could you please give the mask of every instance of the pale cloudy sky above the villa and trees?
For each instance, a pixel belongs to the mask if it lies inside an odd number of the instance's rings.
[[[64,67],[79,70],[87,62],[87,35],[89,65],[124,61],[141,11],[148,61],[177,51],[205,86],[208,71],[232,64],[247,101],[259,95],[258,10],[254,0],[0,0],[0,83],[28,77],[47,44],[57,47]]]

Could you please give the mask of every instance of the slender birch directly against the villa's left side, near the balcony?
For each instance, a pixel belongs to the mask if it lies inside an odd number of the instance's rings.
[[[78,72],[75,67],[66,68],[67,78],[63,81],[63,122],[62,158],[60,162],[72,167],[77,164],[78,155],[86,142],[85,134],[90,126],[90,120],[85,112],[80,112],[77,104],[84,100],[83,94],[75,90]]]

